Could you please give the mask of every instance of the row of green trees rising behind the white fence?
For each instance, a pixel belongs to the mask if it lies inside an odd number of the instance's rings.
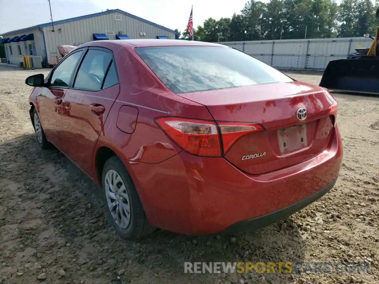
[[[240,14],[209,18],[194,31],[197,41],[251,41],[302,38],[359,37],[379,25],[371,0],[250,0]],[[306,31],[306,33],[305,33]],[[187,30],[181,39],[192,40]]]

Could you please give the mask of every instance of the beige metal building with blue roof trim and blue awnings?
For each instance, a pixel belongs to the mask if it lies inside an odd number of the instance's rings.
[[[55,65],[59,45],[80,45],[104,39],[175,39],[174,30],[119,9],[89,14],[1,35],[6,62],[20,66],[23,55],[30,55],[33,67]]]

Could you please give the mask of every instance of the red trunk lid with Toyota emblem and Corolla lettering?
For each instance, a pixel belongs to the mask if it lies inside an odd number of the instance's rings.
[[[206,106],[217,122],[250,122],[264,127],[243,135],[224,153],[230,163],[250,174],[312,158],[328,147],[334,131],[335,117],[329,115],[334,98],[321,87],[297,81],[180,96]],[[301,121],[304,109],[307,116]]]

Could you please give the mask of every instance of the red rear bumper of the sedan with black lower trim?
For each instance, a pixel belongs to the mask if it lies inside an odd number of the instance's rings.
[[[342,160],[335,130],[322,153],[262,175],[185,151],[159,164],[124,163],[152,225],[183,234],[250,230],[299,211],[334,185]]]

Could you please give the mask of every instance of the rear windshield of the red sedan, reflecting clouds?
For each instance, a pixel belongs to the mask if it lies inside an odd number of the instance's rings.
[[[293,81],[268,64],[228,47],[138,47],[135,51],[175,94]]]

